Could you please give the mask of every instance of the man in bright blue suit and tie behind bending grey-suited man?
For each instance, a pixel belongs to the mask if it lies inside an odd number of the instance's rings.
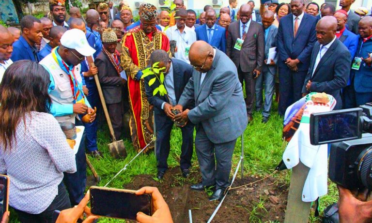
[[[205,13],[206,24],[195,29],[196,40],[202,40],[226,53],[226,30],[216,24],[215,10]]]

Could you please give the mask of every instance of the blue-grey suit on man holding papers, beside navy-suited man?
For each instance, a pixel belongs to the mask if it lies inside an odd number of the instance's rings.
[[[269,49],[276,47],[278,28],[274,25],[270,26],[270,30],[267,33],[267,38],[265,40],[265,59],[269,56]],[[274,62],[277,63],[277,57]],[[271,104],[273,101],[274,84],[275,84],[275,74],[277,73],[276,65],[266,65],[263,64],[262,74],[256,78],[256,110],[260,110],[263,106],[262,116],[269,117]],[[263,84],[265,85],[265,102],[263,104]]]

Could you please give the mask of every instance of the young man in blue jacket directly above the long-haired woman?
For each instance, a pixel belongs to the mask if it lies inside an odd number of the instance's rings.
[[[13,62],[21,59],[30,59],[39,62],[40,58],[35,44],[40,44],[43,38],[43,24],[32,15],[26,15],[20,22],[22,35],[13,44],[13,53],[10,59]]]

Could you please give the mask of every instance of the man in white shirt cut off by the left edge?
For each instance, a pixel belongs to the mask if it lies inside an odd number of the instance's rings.
[[[0,82],[6,70],[13,63],[10,57],[13,52],[14,37],[5,27],[0,25]]]

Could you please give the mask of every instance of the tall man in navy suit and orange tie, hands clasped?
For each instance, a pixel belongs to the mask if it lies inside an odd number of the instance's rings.
[[[292,0],[292,13],[280,19],[277,35],[279,114],[302,97],[302,87],[316,42],[316,17],[304,13],[304,0]]]

